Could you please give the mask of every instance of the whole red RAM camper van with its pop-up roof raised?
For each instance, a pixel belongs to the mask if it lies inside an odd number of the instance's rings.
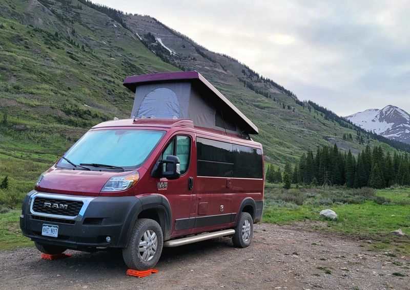
[[[257,127],[197,72],[128,77],[131,118],[100,123],[41,174],[20,228],[46,254],[122,249],[151,269],[163,247],[232,236],[263,210]]]

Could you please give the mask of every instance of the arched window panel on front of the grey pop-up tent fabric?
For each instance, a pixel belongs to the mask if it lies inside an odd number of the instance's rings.
[[[149,92],[139,106],[137,118],[179,118],[179,99],[174,91],[158,87]]]

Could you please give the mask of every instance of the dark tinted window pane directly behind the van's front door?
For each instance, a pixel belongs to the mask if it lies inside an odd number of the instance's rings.
[[[198,176],[233,176],[232,144],[197,138],[196,146]]]

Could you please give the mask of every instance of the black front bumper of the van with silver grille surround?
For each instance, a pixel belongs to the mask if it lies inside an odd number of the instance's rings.
[[[75,216],[41,213],[33,210],[36,197],[77,200],[83,202],[83,206]],[[135,196],[90,197],[33,190],[24,199],[20,228],[23,235],[33,241],[68,249],[124,248],[139,207],[142,207],[141,202]],[[43,236],[43,224],[58,226],[58,236]],[[107,242],[107,236],[110,242]]]

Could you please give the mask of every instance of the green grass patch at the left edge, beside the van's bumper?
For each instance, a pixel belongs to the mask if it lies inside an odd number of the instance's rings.
[[[13,210],[0,214],[0,250],[33,246],[33,242],[22,235],[19,227],[21,211]]]

